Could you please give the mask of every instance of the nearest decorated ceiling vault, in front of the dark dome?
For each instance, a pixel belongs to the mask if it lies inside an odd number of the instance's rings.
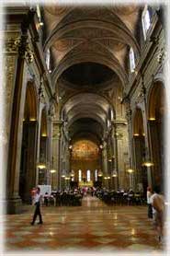
[[[49,33],[44,51],[51,49],[54,55],[53,83],[69,66],[97,61],[115,71],[125,86],[127,47],[132,46],[140,54],[135,37],[139,12],[138,6],[123,6],[122,11],[119,6],[46,6],[44,17]]]

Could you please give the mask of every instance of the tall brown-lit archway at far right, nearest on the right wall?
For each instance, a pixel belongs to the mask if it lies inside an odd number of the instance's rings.
[[[156,82],[150,93],[148,122],[153,157],[153,183],[164,190],[164,115],[165,91],[161,82]]]

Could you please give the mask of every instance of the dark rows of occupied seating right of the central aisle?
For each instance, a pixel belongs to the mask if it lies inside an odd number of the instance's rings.
[[[97,191],[96,197],[106,204],[115,205],[144,205],[146,199],[140,192],[121,192],[121,191]]]

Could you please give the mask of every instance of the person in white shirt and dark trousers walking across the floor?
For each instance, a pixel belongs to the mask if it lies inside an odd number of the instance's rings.
[[[42,216],[41,216],[41,213],[40,213],[40,201],[41,201],[41,194],[40,194],[40,188],[38,187],[37,191],[35,193],[35,196],[33,198],[33,204],[36,205],[36,208],[35,208],[35,212],[34,212],[34,215],[33,215],[32,222],[30,223],[31,225],[34,225],[38,215],[40,217],[40,222],[38,224],[43,224]]]

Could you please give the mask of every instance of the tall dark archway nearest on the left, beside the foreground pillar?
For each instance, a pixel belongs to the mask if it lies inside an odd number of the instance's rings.
[[[19,196],[24,203],[30,203],[30,190],[36,184],[37,127],[36,91],[34,85],[28,82],[19,173]]]

